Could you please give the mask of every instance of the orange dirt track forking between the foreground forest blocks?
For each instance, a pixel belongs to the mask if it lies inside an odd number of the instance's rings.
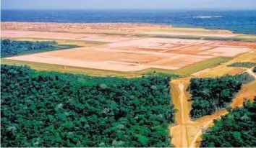
[[[246,91],[244,90],[246,90],[248,86],[252,85],[256,81],[256,75],[252,72],[252,69],[246,70],[246,73],[253,75],[255,80],[252,81],[252,83],[243,85],[242,91],[240,91],[236,98],[234,98],[234,101],[231,104],[232,107],[242,106],[242,102],[239,102],[238,100],[241,98],[241,96],[246,94]],[[170,135],[172,137],[171,143],[174,144],[175,147],[199,147],[202,131],[212,125],[213,120],[219,119],[221,116],[228,113],[228,111],[222,110],[218,111],[216,114],[203,116],[200,119],[192,121],[189,116],[192,106],[191,101],[188,101],[190,95],[187,91],[189,81],[190,77],[171,81],[172,101],[174,103],[174,107],[179,110],[175,114],[176,125],[172,126],[170,131]],[[254,95],[256,96],[255,92],[251,92],[253,94],[249,96],[253,98]]]

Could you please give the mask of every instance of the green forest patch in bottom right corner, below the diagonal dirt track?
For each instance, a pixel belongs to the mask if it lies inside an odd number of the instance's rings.
[[[256,96],[234,108],[202,134],[200,147],[256,147]]]

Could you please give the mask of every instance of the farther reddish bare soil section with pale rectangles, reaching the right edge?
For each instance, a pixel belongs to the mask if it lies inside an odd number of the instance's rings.
[[[122,50],[152,50],[158,52],[171,52],[190,55],[213,55],[234,57],[244,52],[251,51],[256,43],[208,41],[208,40],[185,40],[185,39],[165,39],[165,38],[144,38],[124,42],[114,42],[106,45],[111,49]],[[104,46],[104,45],[103,45]]]

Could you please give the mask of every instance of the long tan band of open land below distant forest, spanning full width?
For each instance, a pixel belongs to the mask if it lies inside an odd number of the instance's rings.
[[[54,22],[2,22],[3,30],[70,32],[120,36],[208,37],[213,40],[255,41],[256,35],[233,34],[223,29],[179,28],[167,24],[140,23],[54,23]],[[198,38],[199,37],[199,38]]]

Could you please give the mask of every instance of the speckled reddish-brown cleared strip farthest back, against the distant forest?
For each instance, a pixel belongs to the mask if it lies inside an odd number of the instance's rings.
[[[106,34],[132,34],[150,30],[170,29],[171,25],[138,23],[54,23],[54,22],[2,22],[2,30],[43,32],[80,32]]]

